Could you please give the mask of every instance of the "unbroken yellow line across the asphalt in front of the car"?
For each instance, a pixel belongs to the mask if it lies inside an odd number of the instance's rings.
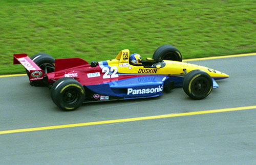
[[[39,131],[39,130],[71,128],[71,127],[100,125],[100,124],[113,124],[113,123],[141,121],[141,120],[163,119],[163,118],[172,118],[172,117],[180,117],[180,116],[191,116],[191,115],[212,114],[212,113],[221,113],[221,112],[230,112],[230,111],[241,111],[241,110],[246,110],[246,109],[256,109],[256,105],[243,106],[243,107],[232,107],[232,108],[224,108],[224,109],[214,109],[214,110],[208,110],[208,111],[197,111],[197,112],[189,112],[189,113],[179,113],[179,114],[167,114],[167,115],[146,116],[146,117],[138,117],[138,118],[96,121],[96,122],[88,122],[88,123],[77,123],[77,124],[36,127],[36,128],[4,130],[4,131],[0,131],[0,134],[17,133],[17,132],[31,132],[31,131]]]

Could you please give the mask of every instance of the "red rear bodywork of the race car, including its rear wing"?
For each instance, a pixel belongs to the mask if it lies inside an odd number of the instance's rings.
[[[14,54],[13,64],[22,64],[30,73],[29,80],[40,80],[44,78],[44,70],[41,70],[27,54]],[[98,73],[99,76],[90,77],[89,74]],[[119,75],[117,78],[103,79],[100,65],[92,67],[87,61],[80,58],[56,59],[55,71],[46,73],[48,82],[54,83],[63,77],[72,77],[83,86],[103,84],[125,78],[138,77],[139,75]],[[141,75],[143,76],[143,75]]]

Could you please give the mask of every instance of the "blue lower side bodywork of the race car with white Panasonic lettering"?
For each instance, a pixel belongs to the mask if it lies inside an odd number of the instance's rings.
[[[183,76],[140,76],[104,84],[86,86],[93,93],[105,96],[121,97],[122,99],[156,97],[163,94],[164,86],[174,82],[174,87],[182,87]],[[213,88],[218,88],[212,78]]]

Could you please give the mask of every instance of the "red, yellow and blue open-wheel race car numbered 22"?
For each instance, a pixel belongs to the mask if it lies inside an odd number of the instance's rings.
[[[14,54],[13,64],[22,64],[31,86],[47,86],[53,102],[66,111],[82,103],[157,97],[163,91],[183,87],[192,99],[207,97],[218,88],[216,79],[229,75],[215,69],[182,62],[181,52],[162,45],[152,58],[121,50],[115,59],[89,64],[80,58],[54,59],[47,53]]]

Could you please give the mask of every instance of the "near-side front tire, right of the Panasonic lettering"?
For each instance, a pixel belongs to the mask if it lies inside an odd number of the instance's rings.
[[[183,90],[192,99],[200,100],[212,91],[212,78],[202,70],[188,72],[183,79]]]

